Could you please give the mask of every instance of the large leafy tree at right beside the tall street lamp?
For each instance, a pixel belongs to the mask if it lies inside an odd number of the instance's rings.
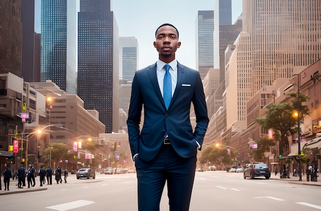
[[[274,139],[280,143],[280,152],[285,150],[289,154],[288,137],[297,133],[297,117],[294,112],[297,111],[297,94],[289,93],[289,97],[294,97],[291,103],[283,102],[279,104],[271,103],[266,106],[266,117],[257,118],[262,128],[268,130],[273,129]],[[304,117],[309,114],[307,106],[303,106],[303,102],[307,102],[309,97],[303,93],[299,94],[299,111],[300,121],[304,121]]]

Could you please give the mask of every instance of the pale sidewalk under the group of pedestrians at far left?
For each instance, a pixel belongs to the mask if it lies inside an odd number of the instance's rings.
[[[26,183],[27,183],[27,178],[26,178]],[[18,180],[11,179],[10,185],[9,185],[10,191],[5,191],[5,184],[4,184],[3,177],[2,177],[1,178],[2,190],[0,191],[0,196],[1,195],[9,195],[9,194],[21,194],[21,193],[35,192],[35,191],[45,191],[47,189],[47,186],[51,186],[51,185],[47,185],[47,184],[44,184],[43,186],[39,186],[40,182],[39,182],[38,177],[36,177],[36,185],[34,187],[28,188],[28,184],[26,184],[26,186],[24,186],[23,188],[18,188],[17,184],[18,184]]]

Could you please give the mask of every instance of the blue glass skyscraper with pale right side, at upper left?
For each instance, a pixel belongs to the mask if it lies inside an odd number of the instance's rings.
[[[52,80],[68,94],[76,93],[76,0],[41,2],[41,81]]]

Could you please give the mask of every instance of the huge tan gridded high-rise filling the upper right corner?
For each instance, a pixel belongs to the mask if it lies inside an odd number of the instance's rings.
[[[243,1],[243,31],[252,43],[253,95],[321,58],[320,11],[320,0]]]

